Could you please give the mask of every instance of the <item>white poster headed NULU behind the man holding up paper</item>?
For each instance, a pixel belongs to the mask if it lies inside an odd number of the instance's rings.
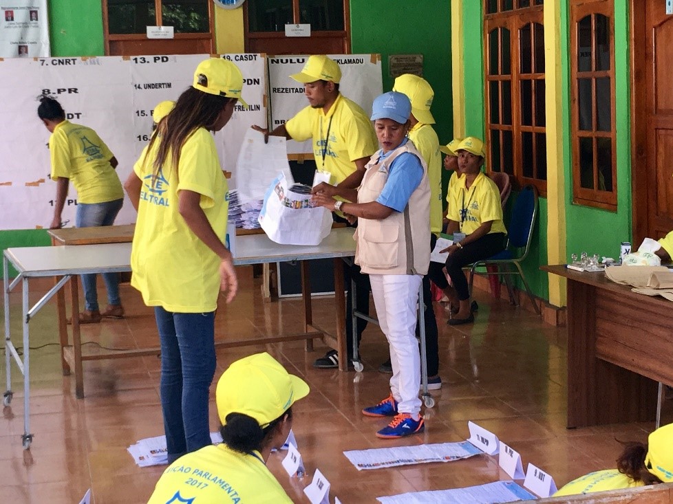
[[[383,93],[380,54],[330,54],[341,69],[339,91],[356,102],[370,115],[376,96]],[[308,56],[273,56],[268,58],[270,111],[269,129],[274,129],[308,105],[303,85],[290,78],[301,72]],[[288,154],[312,154],[310,140],[288,142]]]

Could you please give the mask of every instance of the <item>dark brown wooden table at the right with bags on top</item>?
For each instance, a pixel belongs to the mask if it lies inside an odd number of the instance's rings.
[[[568,280],[568,428],[654,419],[656,382],[673,386],[673,303],[603,272],[540,269]]]

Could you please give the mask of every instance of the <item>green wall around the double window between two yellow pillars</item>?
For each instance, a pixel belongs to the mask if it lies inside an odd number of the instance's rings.
[[[464,44],[464,86],[465,86],[465,133],[479,138],[485,137],[485,103],[484,103],[484,34],[482,2],[469,1],[463,4]],[[509,213],[516,193],[513,191],[505,210],[505,223],[509,221]],[[533,294],[540,298],[549,298],[548,275],[540,271],[540,265],[547,261],[547,200],[540,198],[531,250],[522,267],[526,280],[531,285]],[[517,278],[517,285],[523,287]],[[522,303],[528,303],[524,298]]]

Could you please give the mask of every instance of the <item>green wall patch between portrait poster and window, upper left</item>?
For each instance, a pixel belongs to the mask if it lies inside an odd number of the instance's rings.
[[[52,56],[103,56],[100,0],[49,0]]]

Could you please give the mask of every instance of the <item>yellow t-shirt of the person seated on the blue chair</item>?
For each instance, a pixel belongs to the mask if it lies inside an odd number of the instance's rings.
[[[449,214],[452,221],[460,223],[460,230],[472,234],[484,222],[493,221],[489,234],[506,233],[502,222],[500,192],[493,180],[479,173],[469,189],[465,188],[467,177],[460,177],[449,190]],[[461,214],[464,213],[464,218]]]

